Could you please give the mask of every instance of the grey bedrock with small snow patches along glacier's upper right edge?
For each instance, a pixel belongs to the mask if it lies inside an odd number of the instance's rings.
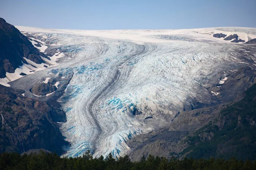
[[[188,97],[183,105],[183,111],[204,108],[209,106],[227,103],[244,92],[256,82],[256,70],[250,67],[243,67],[232,74],[220,76],[219,83],[207,87],[207,91],[201,90],[199,97]],[[210,95],[209,95],[210,94]]]

